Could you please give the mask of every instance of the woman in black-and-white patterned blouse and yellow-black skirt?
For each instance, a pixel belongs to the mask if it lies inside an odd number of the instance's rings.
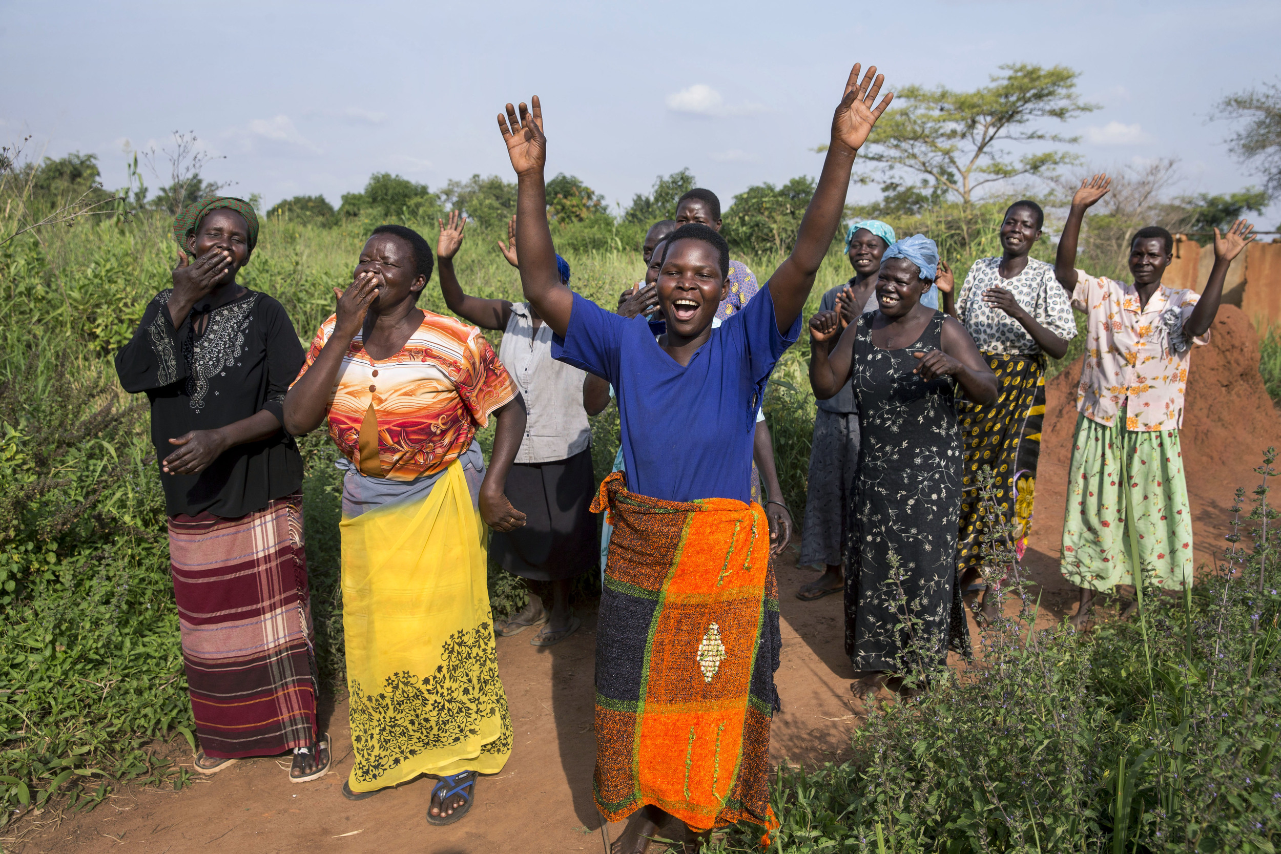
[[[1045,214],[1034,201],[1017,201],[1000,224],[1000,257],[975,261],[956,298],[952,274],[939,265],[944,310],[965,324],[984,360],[997,374],[1002,394],[985,406],[958,403],[965,437],[965,494],[961,499],[959,563],[962,590],[986,568],[983,594],[985,622],[999,613],[1000,574],[983,554],[983,520],[995,511],[1002,524],[1013,524],[1015,551],[1022,557],[1036,490],[1041,420],[1045,417],[1045,357],[1062,359],[1076,337],[1067,294],[1054,280],[1054,268],[1027,254],[1040,239]],[[986,466],[995,480],[989,508],[979,494],[979,474]],[[985,561],[986,557],[986,561]]]

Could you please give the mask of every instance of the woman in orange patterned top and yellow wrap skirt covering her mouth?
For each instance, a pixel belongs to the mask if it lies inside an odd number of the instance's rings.
[[[448,825],[470,809],[477,775],[500,772],[511,753],[484,525],[524,524],[503,484],[525,408],[479,329],[416,306],[432,265],[418,232],[374,229],[355,282],[334,289],[338,310],[284,399],[284,426],[298,435],[328,420],[346,472],[342,620],[356,761],[343,795],[434,776],[427,821]],[[491,415],[487,470],[475,433]]]

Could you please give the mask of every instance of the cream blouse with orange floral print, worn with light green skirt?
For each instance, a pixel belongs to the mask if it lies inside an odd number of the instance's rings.
[[[1077,270],[1072,307],[1086,320],[1076,408],[1111,426],[1125,403],[1126,429],[1139,433],[1182,426],[1191,344],[1209,343],[1209,333],[1190,341],[1184,334],[1198,298],[1161,286],[1140,306],[1132,284]]]

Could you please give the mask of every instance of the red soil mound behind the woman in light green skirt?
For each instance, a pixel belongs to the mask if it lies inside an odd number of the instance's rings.
[[[1245,487],[1249,498],[1259,483],[1253,470],[1263,462],[1263,451],[1268,446],[1281,449],[1281,415],[1263,388],[1258,335],[1240,309],[1218,310],[1211,343],[1193,351],[1187,373],[1180,439],[1191,497],[1196,563],[1202,565],[1213,563],[1213,553],[1223,547],[1232,493]],[[1056,567],[1080,376],[1081,362],[1076,361],[1045,385],[1045,431],[1036,472],[1031,545],[1053,558]]]

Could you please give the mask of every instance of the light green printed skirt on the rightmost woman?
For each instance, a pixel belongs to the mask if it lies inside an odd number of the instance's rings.
[[[1193,583],[1193,520],[1179,430],[1125,429],[1077,416],[1063,519],[1063,577],[1111,590],[1134,584],[1132,548],[1148,584],[1181,590]],[[1131,529],[1136,543],[1131,542]]]

